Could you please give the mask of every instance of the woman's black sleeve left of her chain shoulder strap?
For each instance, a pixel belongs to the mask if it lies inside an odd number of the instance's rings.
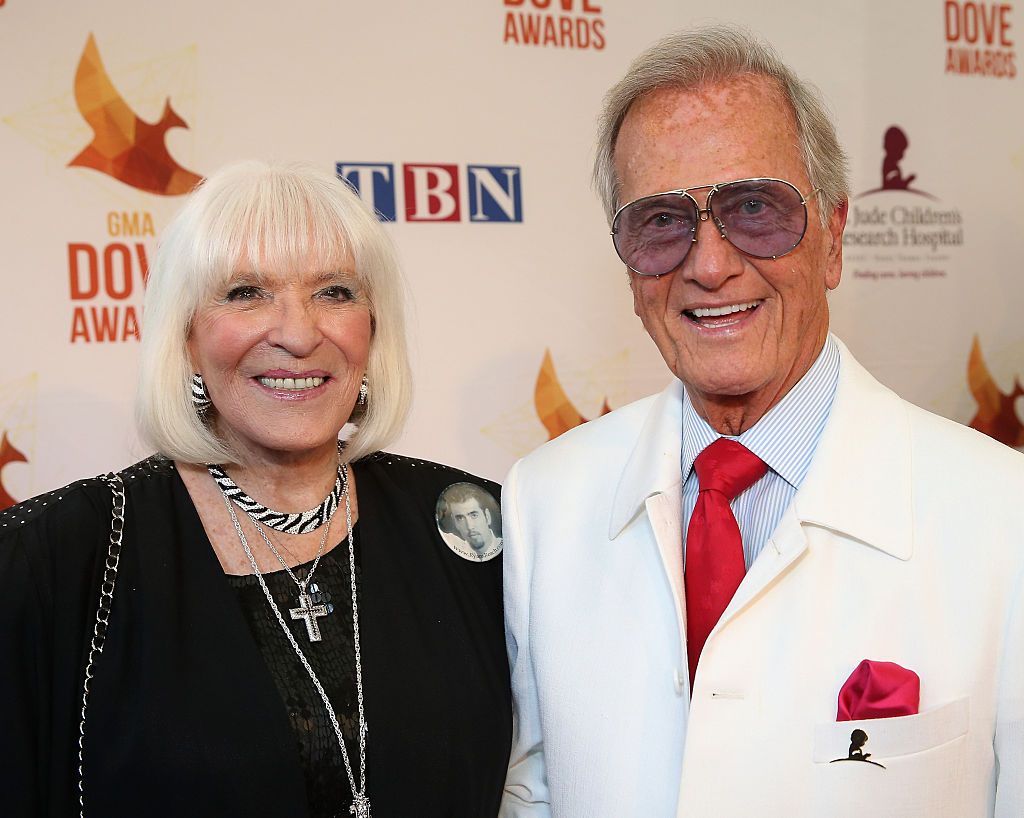
[[[104,508],[103,503],[106,503]],[[80,481],[0,512],[0,814],[78,813],[83,648],[110,537]]]

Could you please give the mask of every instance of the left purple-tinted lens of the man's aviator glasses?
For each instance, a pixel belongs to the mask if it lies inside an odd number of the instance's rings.
[[[671,272],[689,252],[696,219],[693,200],[680,193],[638,199],[623,208],[611,225],[615,252],[643,275]]]

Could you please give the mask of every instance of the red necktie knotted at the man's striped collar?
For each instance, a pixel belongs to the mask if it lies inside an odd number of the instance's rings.
[[[693,461],[700,491],[686,528],[686,652],[690,687],[708,636],[743,579],[743,541],[730,501],[764,476],[757,455],[720,437]]]

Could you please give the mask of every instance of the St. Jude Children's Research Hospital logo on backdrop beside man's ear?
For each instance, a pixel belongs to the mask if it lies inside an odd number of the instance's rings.
[[[918,184],[918,174],[903,169],[909,145],[902,128],[888,128],[879,186],[850,203],[843,249],[855,278],[941,278],[964,246],[959,210],[941,207],[937,197]]]

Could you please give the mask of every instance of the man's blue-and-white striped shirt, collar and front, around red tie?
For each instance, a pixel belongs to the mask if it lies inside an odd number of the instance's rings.
[[[761,553],[807,475],[836,396],[839,364],[839,347],[829,335],[817,359],[797,385],[754,426],[732,438],[768,464],[768,473],[731,504],[743,539],[743,559],[748,568]],[[684,390],[683,531],[689,526],[697,502],[699,486],[693,461],[707,446],[724,436],[697,415]],[[685,539],[684,534],[684,553]]]

